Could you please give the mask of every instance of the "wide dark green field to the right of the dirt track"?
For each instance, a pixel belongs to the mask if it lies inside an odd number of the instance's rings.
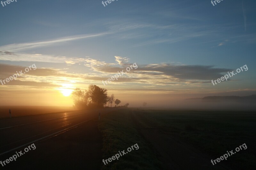
[[[255,112],[135,110],[135,114],[144,127],[180,137],[212,159],[245,143],[247,149],[226,162],[234,168],[256,168]]]

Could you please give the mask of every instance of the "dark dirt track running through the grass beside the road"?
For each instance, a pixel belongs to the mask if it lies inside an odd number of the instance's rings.
[[[228,169],[222,166],[221,162],[213,166],[212,157],[177,137],[163,133],[156,128],[145,128],[141,121],[146,124],[149,122],[138,114],[131,111],[131,116],[140,135],[152,144],[167,169]]]

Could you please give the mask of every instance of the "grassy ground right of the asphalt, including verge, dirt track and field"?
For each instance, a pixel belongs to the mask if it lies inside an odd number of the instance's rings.
[[[255,169],[256,115],[253,112],[120,110],[105,115],[103,157],[140,149],[103,169]],[[212,165],[227,151],[247,149]]]

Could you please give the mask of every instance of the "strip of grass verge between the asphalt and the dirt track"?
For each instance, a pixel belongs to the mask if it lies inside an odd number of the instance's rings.
[[[107,115],[102,115],[98,128],[103,135],[103,159],[108,159],[118,153],[127,152],[127,148],[138,144],[138,150],[132,150],[119,160],[112,160],[102,165],[102,170],[160,170],[164,169],[156,154],[148,147],[148,143],[134,128],[130,109],[121,109]]]

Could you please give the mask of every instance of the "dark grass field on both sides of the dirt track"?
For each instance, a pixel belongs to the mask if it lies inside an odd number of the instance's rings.
[[[128,109],[118,110],[105,115],[100,122],[99,129],[103,133],[104,143],[103,158],[107,159],[135,143],[146,152],[140,152],[142,149],[134,150],[127,155],[127,159],[112,161],[102,169],[162,169],[159,158],[134,129],[128,112]],[[255,112],[135,109],[133,113],[139,117],[140,123],[146,129],[156,129],[169,137],[180,138],[210,155],[212,159],[220,158],[227,151],[234,151],[236,147],[245,143],[246,150],[243,149],[223,161],[232,169],[256,168]]]

